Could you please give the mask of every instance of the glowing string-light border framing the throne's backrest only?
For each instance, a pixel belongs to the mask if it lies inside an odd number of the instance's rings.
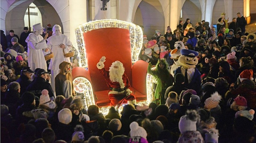
[[[87,22],[85,24],[80,25],[75,30],[76,35],[76,43],[78,47],[78,51],[80,53],[80,60],[78,61],[81,67],[87,67],[87,59],[86,59],[86,47],[84,44],[84,36],[83,33],[101,29],[101,28],[122,28],[128,29],[130,31],[130,44],[131,44],[131,53],[132,53],[132,63],[138,61],[139,53],[142,48],[143,43],[143,34],[142,29],[136,24],[121,21],[121,20],[113,20],[113,19],[104,19],[104,20],[96,20]]]

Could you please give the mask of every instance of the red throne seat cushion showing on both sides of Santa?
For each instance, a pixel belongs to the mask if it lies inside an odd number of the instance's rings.
[[[135,90],[134,88],[131,88],[131,90],[133,91],[133,94],[136,97],[136,102],[140,102],[140,101],[146,101],[147,100],[147,96],[143,95],[142,93],[140,93],[139,91]],[[96,91],[94,92],[94,95],[96,96],[96,105],[99,107],[106,107],[106,106],[110,106],[110,100],[108,98],[108,90],[103,90],[103,91]],[[123,104],[126,104],[127,102],[124,101]]]

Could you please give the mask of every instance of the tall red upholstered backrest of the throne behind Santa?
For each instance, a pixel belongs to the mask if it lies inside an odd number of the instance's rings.
[[[125,74],[132,85],[132,54],[130,33],[128,29],[101,28],[83,33],[88,71],[91,77],[93,91],[108,90],[104,77],[96,67],[102,56],[106,57],[105,69],[109,70],[112,62],[120,61],[125,68]]]

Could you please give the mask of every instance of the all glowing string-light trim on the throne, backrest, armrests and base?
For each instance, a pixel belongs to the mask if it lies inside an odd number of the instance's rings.
[[[87,68],[87,65],[88,65],[87,59],[86,59],[86,47],[85,47],[85,43],[84,43],[83,33],[91,31],[91,30],[101,29],[101,28],[122,28],[122,29],[129,30],[130,31],[132,63],[134,64],[136,61],[138,61],[139,53],[140,53],[140,50],[142,48],[142,43],[143,43],[143,33],[142,33],[141,27],[139,27],[136,24],[126,22],[126,21],[105,19],[105,20],[97,20],[97,21],[87,22],[87,23],[82,24],[76,28],[75,35],[76,35],[76,44],[78,47],[78,53],[80,56],[80,60],[78,61],[80,67]],[[82,84],[83,82],[84,82],[84,84]],[[143,104],[148,105],[152,102],[152,100],[154,100],[153,82],[154,82],[153,76],[147,74],[147,77],[146,77],[147,101],[137,102],[136,104],[141,105],[141,106]],[[87,109],[90,105],[95,104],[92,85],[86,78],[78,77],[73,81],[73,83],[74,83],[74,89],[76,90],[76,92],[84,94],[84,99],[82,100],[82,102],[85,106],[85,109]],[[75,84],[78,86],[80,84],[82,87],[75,87]],[[83,87],[84,87],[84,89],[83,89]],[[119,111],[122,111],[124,105],[125,104],[123,104],[122,106],[119,107]],[[107,115],[109,108],[110,107],[100,107],[99,111],[101,113],[103,113],[104,115]]]

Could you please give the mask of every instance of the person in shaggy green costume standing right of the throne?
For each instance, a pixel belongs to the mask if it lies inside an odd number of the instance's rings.
[[[164,58],[158,60],[156,68],[154,70],[151,69],[153,67],[151,62],[148,65],[148,74],[154,76],[155,80],[157,81],[157,87],[154,94],[153,102],[158,105],[165,104],[165,90],[167,89],[167,87],[172,86],[174,81],[173,76],[169,73],[167,65],[168,64]]]

